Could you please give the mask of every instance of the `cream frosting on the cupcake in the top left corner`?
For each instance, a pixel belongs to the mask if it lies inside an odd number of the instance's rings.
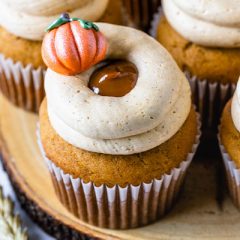
[[[3,0],[0,25],[9,32],[30,40],[42,40],[44,30],[62,12],[90,21],[98,20],[109,0]]]

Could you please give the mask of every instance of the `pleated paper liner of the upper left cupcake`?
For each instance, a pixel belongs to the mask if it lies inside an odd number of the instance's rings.
[[[0,54],[0,91],[14,105],[38,112],[44,93],[45,69],[23,66]]]

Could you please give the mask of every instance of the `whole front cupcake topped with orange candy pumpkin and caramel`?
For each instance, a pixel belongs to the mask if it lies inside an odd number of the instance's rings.
[[[156,221],[175,202],[199,142],[185,75],[157,41],[129,27],[65,16],[48,30],[38,138],[58,198],[99,227]]]

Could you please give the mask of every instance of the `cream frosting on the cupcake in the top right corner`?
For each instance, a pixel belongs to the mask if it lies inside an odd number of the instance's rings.
[[[162,0],[164,14],[184,38],[209,47],[240,47],[239,0]]]

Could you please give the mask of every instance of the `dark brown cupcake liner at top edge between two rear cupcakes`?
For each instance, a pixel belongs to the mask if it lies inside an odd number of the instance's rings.
[[[130,24],[146,32],[161,0],[122,0],[122,3]]]

